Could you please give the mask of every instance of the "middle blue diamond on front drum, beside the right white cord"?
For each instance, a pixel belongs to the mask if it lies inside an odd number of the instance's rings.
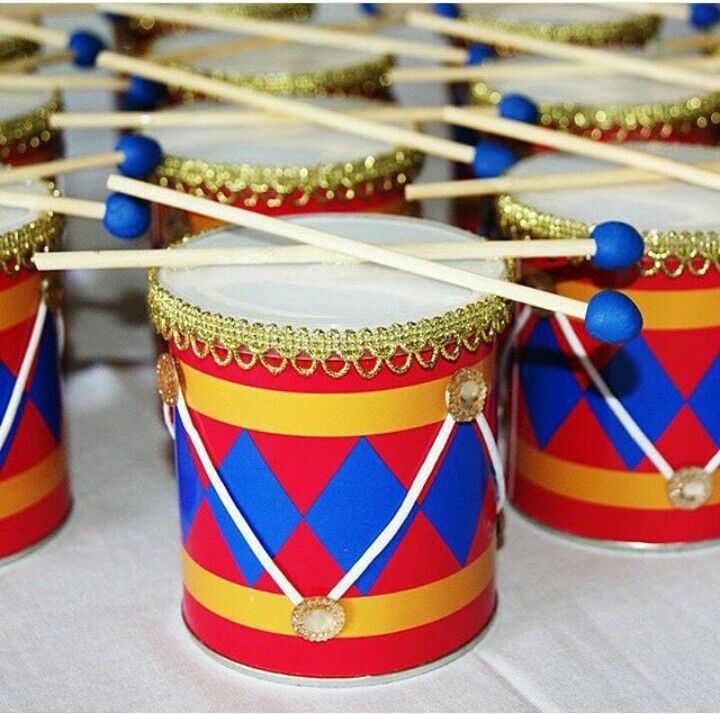
[[[347,571],[387,525],[405,497],[405,489],[364,438],[358,440],[306,515],[315,535]],[[399,539],[393,543],[397,545]],[[379,556],[387,562],[388,544]],[[358,588],[372,587],[380,569],[365,573]]]

